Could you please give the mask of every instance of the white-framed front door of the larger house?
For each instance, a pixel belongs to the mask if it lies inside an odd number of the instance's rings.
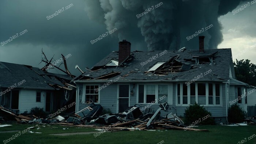
[[[129,107],[129,85],[119,85],[118,112],[124,112]]]

